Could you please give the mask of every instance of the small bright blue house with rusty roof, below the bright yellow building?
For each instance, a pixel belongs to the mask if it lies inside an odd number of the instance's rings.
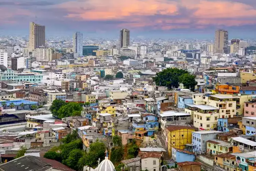
[[[172,159],[176,162],[195,161],[196,156],[194,153],[172,147]]]

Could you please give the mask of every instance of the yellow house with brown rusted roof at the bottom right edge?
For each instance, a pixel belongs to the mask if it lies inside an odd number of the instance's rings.
[[[236,171],[236,156],[230,153],[216,155],[214,157],[214,161],[219,170]]]

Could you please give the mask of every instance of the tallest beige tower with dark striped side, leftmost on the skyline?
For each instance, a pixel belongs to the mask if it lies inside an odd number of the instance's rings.
[[[29,23],[29,51],[45,46],[45,26]]]

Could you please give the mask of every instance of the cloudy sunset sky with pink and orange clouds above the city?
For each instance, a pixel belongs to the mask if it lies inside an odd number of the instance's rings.
[[[0,34],[27,36],[29,22],[46,26],[46,36],[256,38],[255,0],[0,0]]]

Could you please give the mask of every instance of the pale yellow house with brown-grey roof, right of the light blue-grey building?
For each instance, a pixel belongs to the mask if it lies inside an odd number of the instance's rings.
[[[213,155],[232,152],[233,145],[222,140],[208,140],[207,152]]]

